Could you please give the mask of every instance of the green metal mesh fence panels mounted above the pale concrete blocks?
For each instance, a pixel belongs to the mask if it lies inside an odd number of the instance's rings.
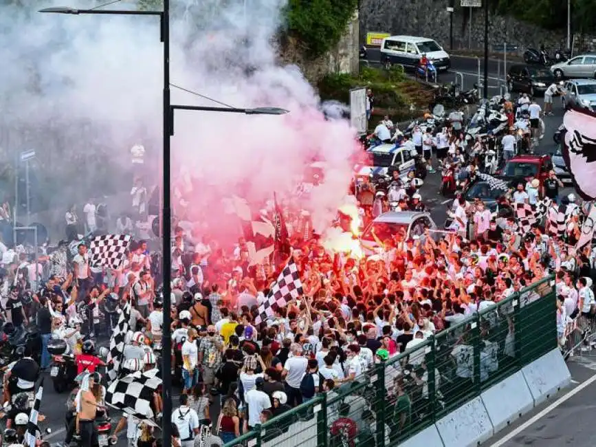
[[[551,277],[225,447],[396,446],[557,346]]]

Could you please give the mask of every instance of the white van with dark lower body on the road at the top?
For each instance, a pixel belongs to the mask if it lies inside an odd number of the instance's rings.
[[[381,44],[381,63],[385,67],[399,64],[404,65],[404,68],[415,68],[422,54],[426,54],[439,72],[451,66],[449,54],[437,42],[426,37],[390,36],[383,39]]]

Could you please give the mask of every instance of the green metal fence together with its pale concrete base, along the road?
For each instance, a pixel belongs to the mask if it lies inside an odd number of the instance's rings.
[[[555,300],[534,283],[225,447],[476,446],[571,381]]]

